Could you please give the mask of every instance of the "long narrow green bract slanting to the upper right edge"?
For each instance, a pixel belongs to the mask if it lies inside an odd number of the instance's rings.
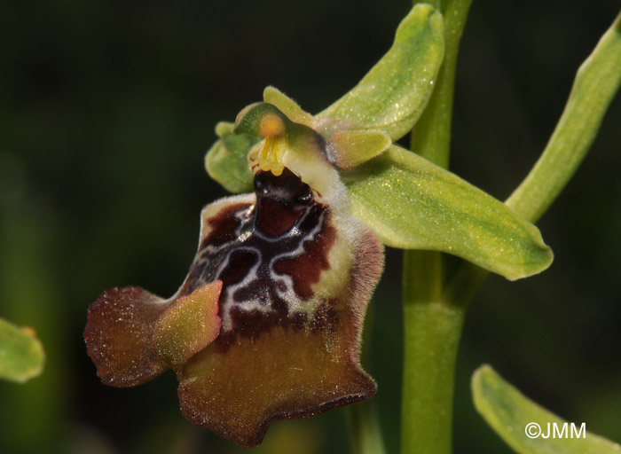
[[[589,151],[621,85],[621,13],[578,69],[570,98],[531,173],[507,200],[533,222],[558,197]]]

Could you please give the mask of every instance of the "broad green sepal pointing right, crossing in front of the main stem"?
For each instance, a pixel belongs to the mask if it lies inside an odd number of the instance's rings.
[[[388,246],[458,255],[514,280],[545,270],[537,227],[459,176],[396,145],[343,173],[351,210]]]

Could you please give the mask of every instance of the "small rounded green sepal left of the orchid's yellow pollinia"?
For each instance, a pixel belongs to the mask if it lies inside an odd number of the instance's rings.
[[[216,134],[220,139],[212,145],[205,156],[205,167],[209,176],[222,184],[229,192],[252,191],[252,172],[248,167],[248,152],[261,137],[232,134],[232,123],[220,122]]]

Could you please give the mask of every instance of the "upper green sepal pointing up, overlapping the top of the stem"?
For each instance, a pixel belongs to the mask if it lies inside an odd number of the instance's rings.
[[[428,4],[417,4],[397,28],[388,53],[317,118],[380,129],[393,140],[404,137],[427,106],[443,58],[442,15]]]

